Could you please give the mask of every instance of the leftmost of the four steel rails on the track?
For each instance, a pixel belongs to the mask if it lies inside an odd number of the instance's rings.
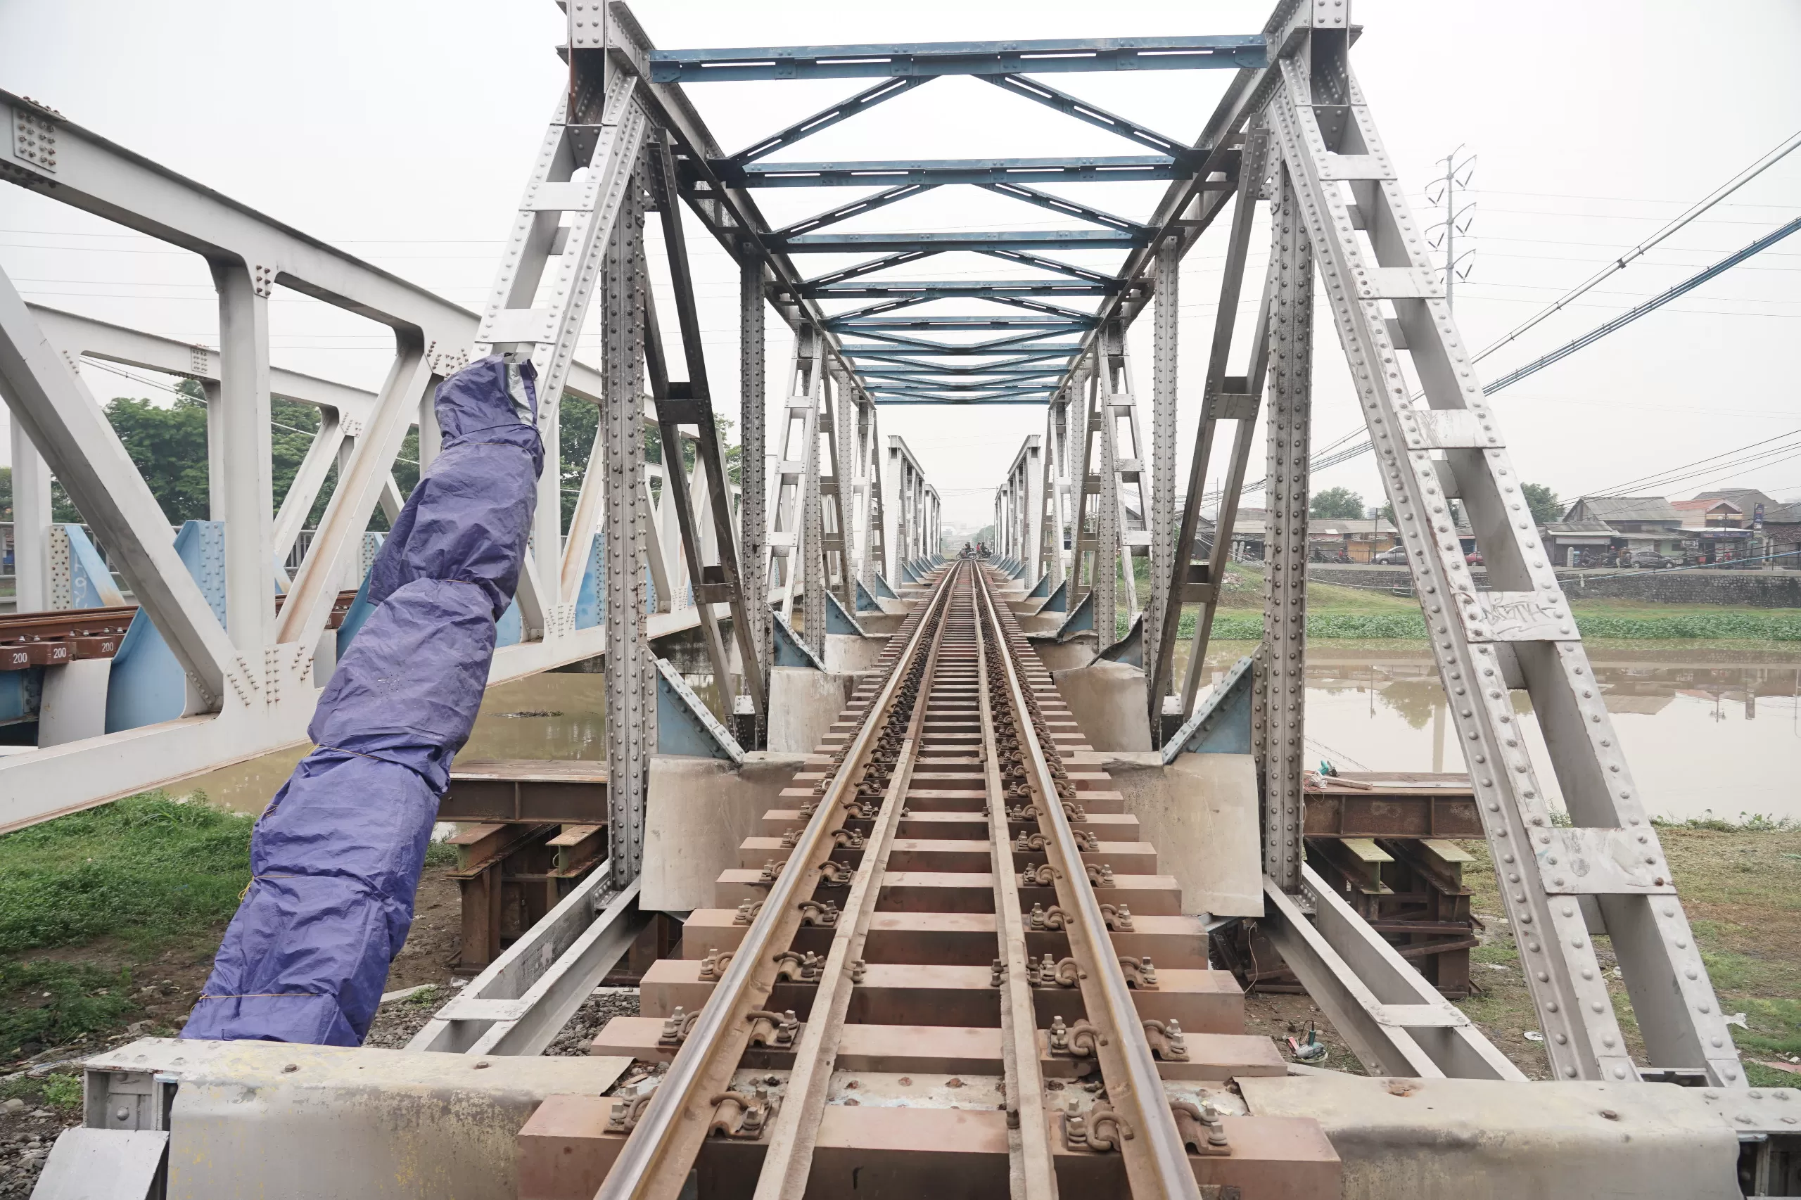
[[[650,1095],[638,1126],[627,1137],[607,1180],[594,1200],[675,1200],[688,1180],[688,1169],[706,1141],[713,1114],[711,1097],[726,1090],[749,1041],[744,1014],[762,1009],[774,991],[774,951],[787,946],[800,928],[798,901],[818,885],[819,867],[830,858],[832,834],[845,822],[841,800],[850,791],[875,750],[877,732],[886,723],[906,668],[920,654],[931,618],[940,614],[949,596],[953,571],[946,571],[928,604],[917,609],[919,622],[906,649],[895,658],[882,690],[870,703],[857,735],[796,841],[787,867],[769,888],[762,910],[744,933],[724,978],[713,987],[693,1031],[675,1052],[668,1074]]]

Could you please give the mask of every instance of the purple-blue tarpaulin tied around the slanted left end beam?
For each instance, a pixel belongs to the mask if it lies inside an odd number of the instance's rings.
[[[378,607],[319,697],[315,750],[250,838],[250,888],[184,1038],[362,1045],[513,600],[544,468],[529,362],[438,387],[443,450],[369,573]]]

